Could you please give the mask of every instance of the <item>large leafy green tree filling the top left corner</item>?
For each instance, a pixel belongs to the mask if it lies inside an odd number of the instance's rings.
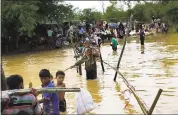
[[[37,21],[37,3],[37,1],[2,1],[2,35],[16,41],[16,48],[22,32],[29,36],[33,33]]]

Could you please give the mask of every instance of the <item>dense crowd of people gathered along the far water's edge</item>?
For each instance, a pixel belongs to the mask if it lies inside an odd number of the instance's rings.
[[[162,33],[167,33],[168,30],[165,23],[160,23],[155,19],[151,24],[143,24],[133,21],[130,25],[131,28],[128,28],[128,26],[128,23],[119,22],[118,24],[113,25],[113,23],[108,24],[106,21],[103,21],[95,25],[71,25],[68,29],[65,29],[65,31],[62,28],[48,27],[46,37],[40,37],[39,41],[41,44],[46,43],[49,49],[54,49],[69,45],[71,42],[79,43],[84,37],[83,34],[87,35],[87,37],[95,37],[95,39],[101,38],[104,43],[106,39],[110,42],[114,41],[112,40],[113,37],[119,42],[119,40],[123,39],[123,36],[126,35],[126,31],[131,33],[135,31],[133,33],[139,35],[141,30],[147,32],[147,34],[149,34],[150,30],[153,28],[155,28],[157,32],[161,30]],[[131,33],[129,35],[132,35]]]

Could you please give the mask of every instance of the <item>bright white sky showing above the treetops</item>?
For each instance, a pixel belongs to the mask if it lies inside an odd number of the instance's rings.
[[[74,7],[78,7],[79,9],[85,9],[85,8],[95,8],[98,11],[103,11],[102,10],[102,1],[65,1],[68,4],[72,4]],[[104,3],[104,9],[108,6],[110,6],[109,1],[103,1]],[[117,3],[117,6],[123,10],[127,9],[127,6],[123,2]]]

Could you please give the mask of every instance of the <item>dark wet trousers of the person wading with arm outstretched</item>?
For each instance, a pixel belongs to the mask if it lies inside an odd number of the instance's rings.
[[[86,77],[87,77],[87,79],[96,79],[97,78],[96,62],[94,62],[90,67],[86,68]]]

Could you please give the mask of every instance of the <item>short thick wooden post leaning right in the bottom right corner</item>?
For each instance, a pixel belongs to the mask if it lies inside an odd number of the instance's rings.
[[[153,101],[153,104],[151,105],[150,110],[148,111],[148,115],[151,115],[153,113],[153,110],[154,110],[154,108],[155,108],[155,106],[156,106],[156,104],[158,102],[158,99],[159,99],[159,97],[160,97],[162,92],[163,92],[163,90],[159,89],[159,91],[158,91],[158,93],[157,93],[157,95],[156,95],[156,97],[155,97],[155,99]]]

